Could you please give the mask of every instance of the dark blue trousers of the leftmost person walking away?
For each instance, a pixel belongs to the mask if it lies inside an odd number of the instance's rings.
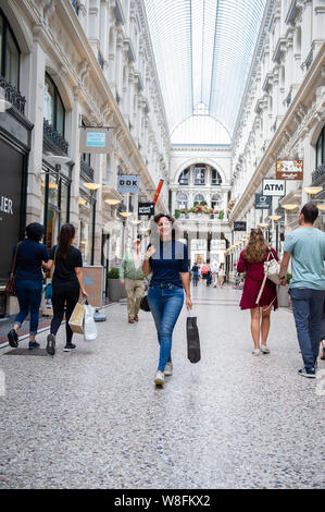
[[[15,317],[14,322],[21,327],[30,310],[29,334],[32,336],[37,334],[41,293],[41,281],[16,281],[20,313]]]

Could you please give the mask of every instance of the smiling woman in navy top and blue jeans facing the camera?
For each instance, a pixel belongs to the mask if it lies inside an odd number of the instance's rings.
[[[158,224],[159,237],[148,246],[142,270],[145,276],[152,272],[148,303],[160,343],[154,383],[163,385],[165,376],[173,374],[172,336],[183,307],[184,290],[188,309],[191,309],[192,303],[187,247],[175,240],[174,219],[167,214],[159,214],[154,217],[154,222]]]

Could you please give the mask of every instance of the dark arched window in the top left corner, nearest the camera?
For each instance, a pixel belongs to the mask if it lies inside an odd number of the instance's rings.
[[[20,88],[21,51],[7,17],[0,10],[0,75]]]

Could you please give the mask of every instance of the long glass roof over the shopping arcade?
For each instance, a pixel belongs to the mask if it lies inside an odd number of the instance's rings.
[[[265,3],[145,0],[172,142],[179,143],[182,123],[183,136],[192,138],[189,125],[199,133],[204,119],[218,124],[214,144],[233,135]]]

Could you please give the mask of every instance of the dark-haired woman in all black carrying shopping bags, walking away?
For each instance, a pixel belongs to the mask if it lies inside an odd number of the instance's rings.
[[[62,225],[58,237],[58,245],[54,245],[52,248],[47,265],[47,268],[51,269],[54,264],[52,279],[53,319],[47,343],[47,352],[51,355],[55,354],[55,334],[63,319],[64,305],[66,306],[66,344],[63,350],[64,352],[71,352],[76,349],[76,345],[72,343],[73,331],[71,330],[68,320],[79,300],[80,291],[83,296],[87,297],[84,288],[82,253],[79,249],[72,246],[74,235],[75,229],[72,224],[67,223]]]

